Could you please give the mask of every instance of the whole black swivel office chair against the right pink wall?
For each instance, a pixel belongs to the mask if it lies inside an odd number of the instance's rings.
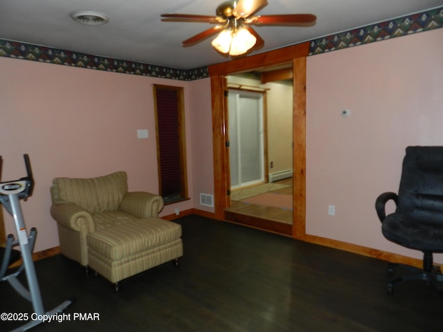
[[[397,207],[386,216],[390,200]],[[439,285],[443,275],[440,267],[433,265],[433,253],[443,252],[443,147],[407,147],[398,195],[381,194],[375,210],[386,239],[424,253],[423,268],[404,266],[413,273],[391,280],[386,291],[392,293],[392,287],[400,282],[423,280],[443,295]],[[392,272],[395,265],[390,264],[388,270]]]

